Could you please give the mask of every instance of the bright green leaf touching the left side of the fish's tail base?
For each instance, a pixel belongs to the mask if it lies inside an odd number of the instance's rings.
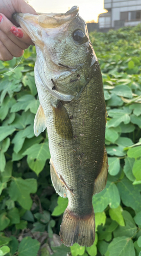
[[[58,205],[53,210],[52,216],[59,216],[63,214],[64,210],[67,207],[68,199],[63,197],[58,197],[57,204]]]

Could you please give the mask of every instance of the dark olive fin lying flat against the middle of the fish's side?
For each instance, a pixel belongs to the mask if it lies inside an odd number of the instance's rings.
[[[63,104],[59,101],[57,107],[53,106],[54,126],[58,135],[66,140],[73,138],[72,123]]]

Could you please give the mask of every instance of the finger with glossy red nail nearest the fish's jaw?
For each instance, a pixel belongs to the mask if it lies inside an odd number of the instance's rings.
[[[21,29],[21,37],[15,36],[13,33],[10,32],[11,27],[13,27],[13,24],[10,22],[10,20],[4,15],[0,13],[0,29],[20,48],[26,49],[26,45],[33,44],[31,38],[28,36],[28,34],[25,32],[25,30]],[[14,27],[15,28],[15,27]]]

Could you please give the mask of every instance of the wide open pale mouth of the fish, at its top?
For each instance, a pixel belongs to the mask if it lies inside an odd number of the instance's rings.
[[[20,25],[25,22],[32,22],[35,25],[39,25],[42,28],[57,28],[66,22],[71,21],[78,15],[79,7],[73,6],[66,13],[37,13],[33,15],[29,13],[14,13],[12,16],[16,22]]]

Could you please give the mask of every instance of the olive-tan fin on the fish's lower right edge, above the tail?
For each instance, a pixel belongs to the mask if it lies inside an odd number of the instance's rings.
[[[108,157],[107,157],[106,148],[104,146],[103,165],[101,168],[101,172],[99,173],[97,179],[95,180],[93,195],[98,194],[105,188],[106,182],[107,182],[107,175],[108,175]]]

